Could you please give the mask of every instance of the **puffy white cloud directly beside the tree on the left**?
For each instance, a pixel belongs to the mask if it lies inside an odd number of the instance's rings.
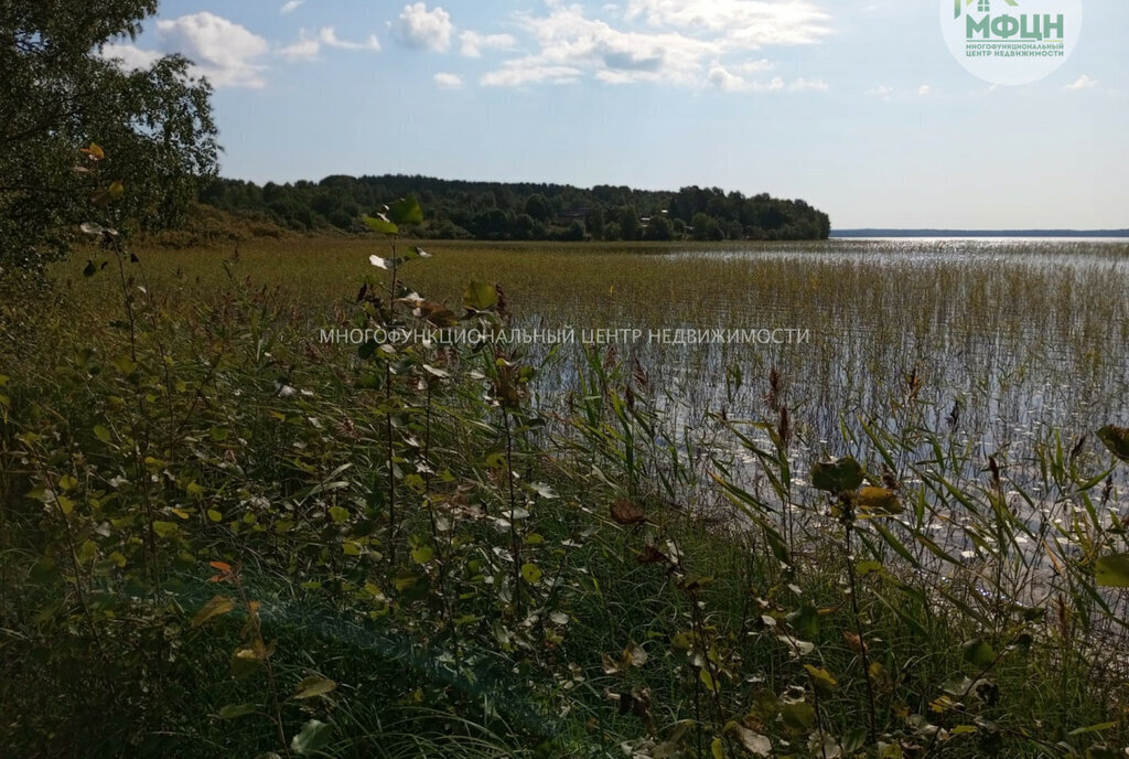
[[[167,53],[181,53],[193,62],[194,76],[208,77],[216,87],[265,86],[259,63],[268,51],[266,41],[221,16],[201,11],[157,21],[157,50],[132,44],[110,44],[102,54],[116,58],[125,68],[147,66]]]

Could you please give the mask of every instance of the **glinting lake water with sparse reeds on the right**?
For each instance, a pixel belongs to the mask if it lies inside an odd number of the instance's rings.
[[[808,337],[791,344],[644,338],[595,346],[624,376],[639,375],[634,391],[665,412],[664,442],[682,451],[702,456],[714,443],[726,445],[710,412],[774,422],[765,402],[773,368],[795,429],[797,472],[829,456],[874,461],[865,425],[901,438],[918,427],[954,446],[961,477],[982,480],[992,456],[1017,487],[1038,492],[1040,455],[1057,440],[1069,451],[1087,435],[1084,450],[1101,460],[1094,430],[1129,425],[1126,241],[842,239],[647,259],[650,274],[669,272],[677,298],[568,304],[539,314],[539,323],[567,320],[578,334],[613,325],[645,334],[779,328]],[[543,402],[576,389],[575,368],[566,359],[542,381]],[[755,437],[768,445],[763,433]],[[931,455],[922,438],[898,463]],[[738,455],[737,464],[746,481],[756,479],[752,457]],[[1129,506],[1119,501],[1129,494],[1124,480],[1115,485],[1112,511]]]

